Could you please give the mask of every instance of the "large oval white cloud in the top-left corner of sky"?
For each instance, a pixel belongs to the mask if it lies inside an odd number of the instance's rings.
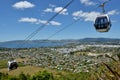
[[[16,9],[25,9],[25,8],[33,8],[35,5],[28,1],[20,1],[13,5]]]

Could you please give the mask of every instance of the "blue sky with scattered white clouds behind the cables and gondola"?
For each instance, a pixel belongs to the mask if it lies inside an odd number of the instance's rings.
[[[48,19],[58,13],[70,0],[0,0],[0,42],[24,40]],[[50,39],[81,39],[86,37],[120,38],[120,0],[106,4],[106,13],[112,20],[107,33],[99,33],[93,26],[101,12],[97,6],[106,0],[74,0],[56,18],[32,39],[47,39],[78,17],[80,21]]]

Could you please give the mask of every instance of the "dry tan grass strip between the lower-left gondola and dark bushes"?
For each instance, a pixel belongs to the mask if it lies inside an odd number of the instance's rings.
[[[33,75],[38,71],[44,71],[47,70],[50,73],[53,73],[54,76],[58,76],[59,74],[67,74],[64,71],[58,71],[58,70],[52,70],[52,69],[47,69],[47,68],[40,68],[40,67],[35,67],[35,66],[24,66],[24,67],[18,67],[18,69],[12,70],[12,71],[8,71],[7,68],[3,68],[0,69],[0,72],[3,73],[8,73],[9,75],[19,75],[21,72],[23,72],[24,74],[30,74]]]

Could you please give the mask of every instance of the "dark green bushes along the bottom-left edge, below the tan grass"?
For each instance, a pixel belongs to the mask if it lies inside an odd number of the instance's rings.
[[[48,73],[47,71],[39,71],[33,76],[25,75],[24,73],[20,73],[18,77],[10,76],[5,73],[0,72],[0,80],[54,80],[53,74]]]

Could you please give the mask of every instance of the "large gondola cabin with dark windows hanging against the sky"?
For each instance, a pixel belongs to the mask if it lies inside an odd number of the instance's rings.
[[[94,27],[98,32],[108,32],[111,27],[111,21],[107,14],[101,14],[96,17]]]

